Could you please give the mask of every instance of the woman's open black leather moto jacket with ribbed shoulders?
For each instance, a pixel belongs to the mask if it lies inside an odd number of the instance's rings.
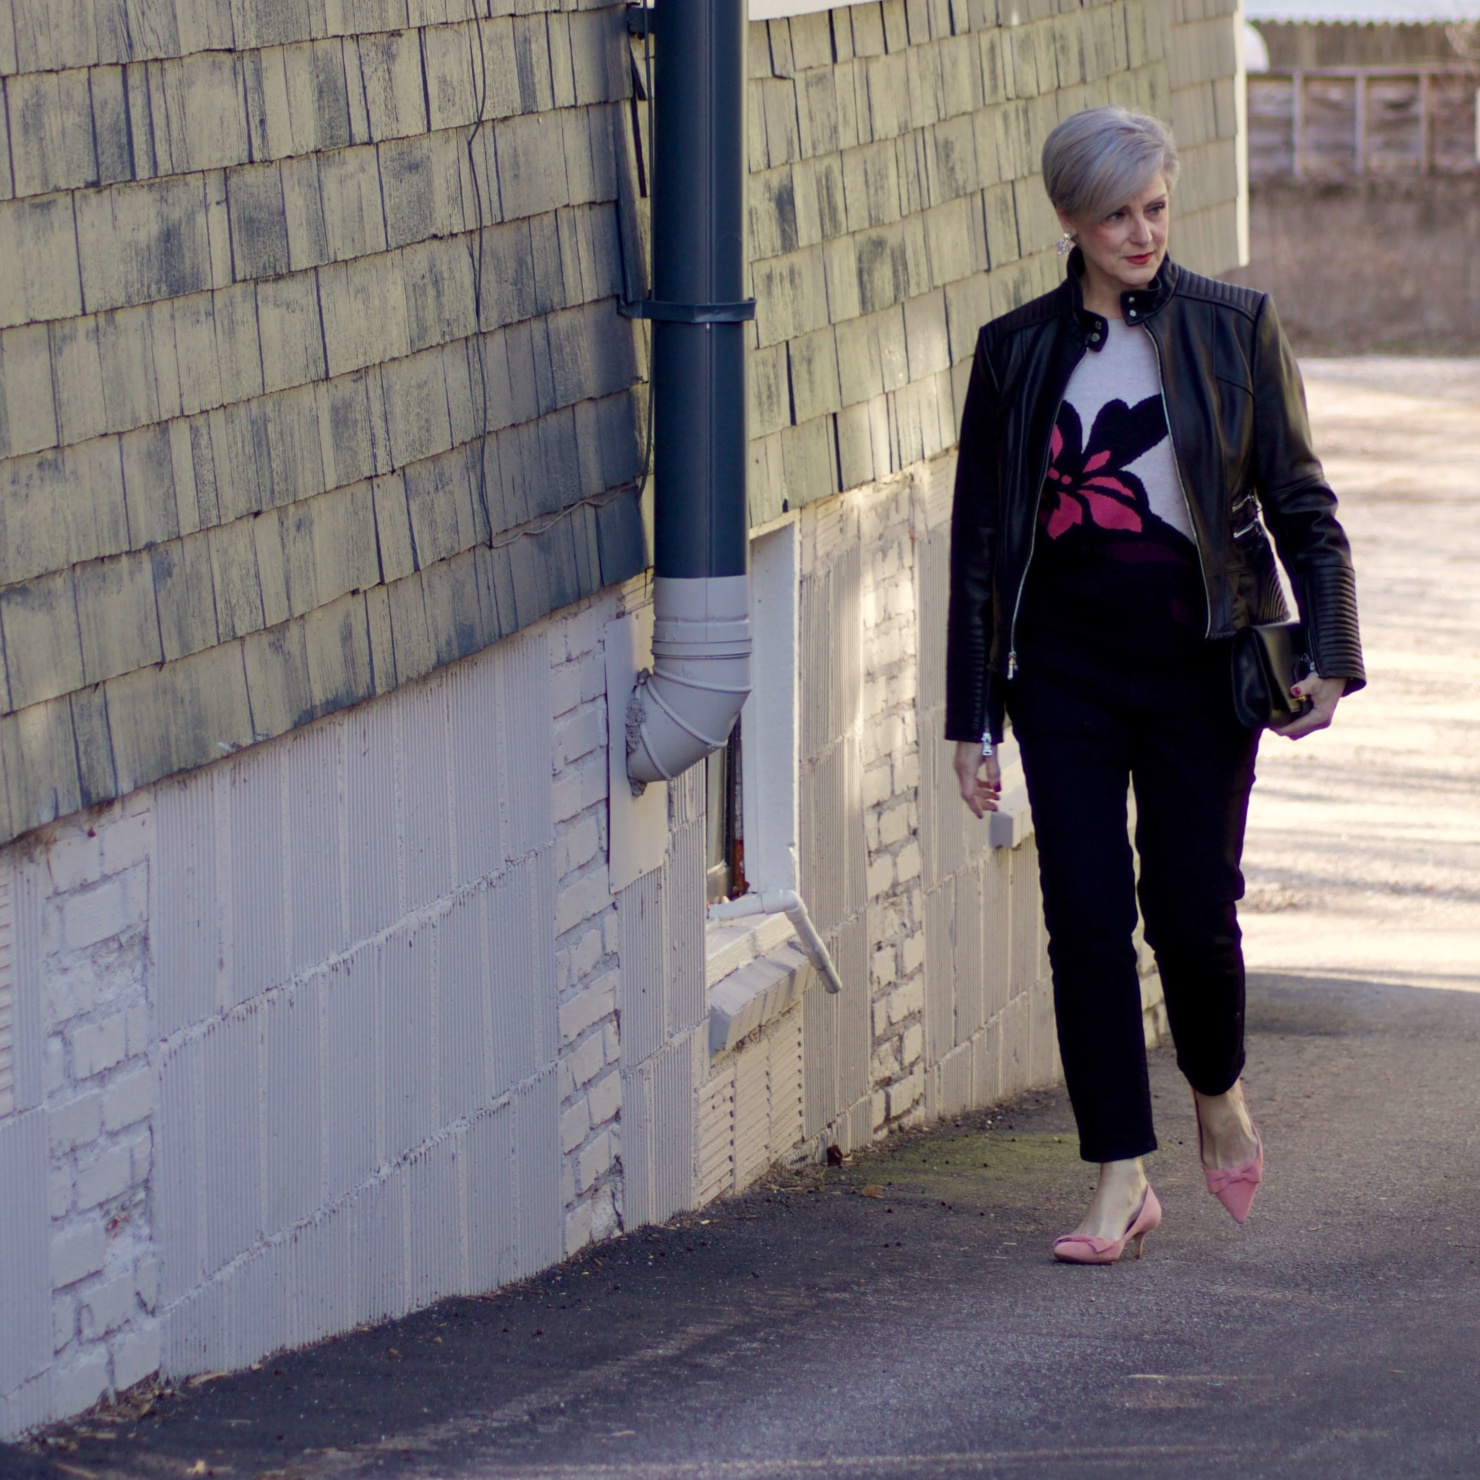
[[[1083,306],[1079,274],[1076,249],[1058,289],[995,318],[977,337],[952,514],[947,740],[1002,736],[1002,679],[1017,667],[1015,625],[1049,435],[1074,366],[1098,351],[1107,330]],[[1299,370],[1274,305],[1166,260],[1150,286],[1120,296],[1120,311],[1156,345],[1208,592],[1206,635],[1228,638],[1288,619],[1273,536],[1317,672],[1345,678],[1347,693],[1360,688],[1351,551],[1311,451]]]

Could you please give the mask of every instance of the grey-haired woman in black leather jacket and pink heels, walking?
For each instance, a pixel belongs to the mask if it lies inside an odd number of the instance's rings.
[[[1137,889],[1208,1188],[1243,1222],[1264,1148],[1243,1103],[1236,901],[1259,733],[1233,709],[1231,639],[1286,620],[1314,670],[1298,740],[1363,684],[1336,500],[1268,297],[1166,256],[1177,149],[1091,108],[1043,145],[1066,281],[977,340],[952,519],[946,737],[978,817],[1012,719],[1037,835],[1064,1077],[1094,1200],[1054,1255],[1117,1259],[1160,1222],[1132,931]],[[1135,881],[1126,826],[1135,789]]]

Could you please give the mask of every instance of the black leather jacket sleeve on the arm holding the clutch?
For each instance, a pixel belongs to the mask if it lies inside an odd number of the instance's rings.
[[[1311,660],[1323,678],[1344,678],[1354,693],[1366,670],[1351,546],[1311,447],[1299,367],[1268,297],[1255,326],[1254,443],[1264,522],[1295,588]]]

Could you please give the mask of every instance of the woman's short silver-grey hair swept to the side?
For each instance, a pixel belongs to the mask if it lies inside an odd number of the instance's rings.
[[[1043,185],[1058,210],[1100,221],[1140,195],[1157,173],[1177,184],[1172,130],[1144,112],[1085,108],[1043,142]]]

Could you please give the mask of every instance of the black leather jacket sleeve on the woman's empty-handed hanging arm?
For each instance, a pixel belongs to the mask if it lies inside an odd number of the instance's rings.
[[[946,739],[980,740],[1002,721],[989,721],[987,656],[992,651],[992,573],[996,561],[996,517],[1000,503],[992,445],[998,388],[987,360],[986,336],[966,386],[956,460],[956,494],[950,515],[950,607],[946,622]]]

